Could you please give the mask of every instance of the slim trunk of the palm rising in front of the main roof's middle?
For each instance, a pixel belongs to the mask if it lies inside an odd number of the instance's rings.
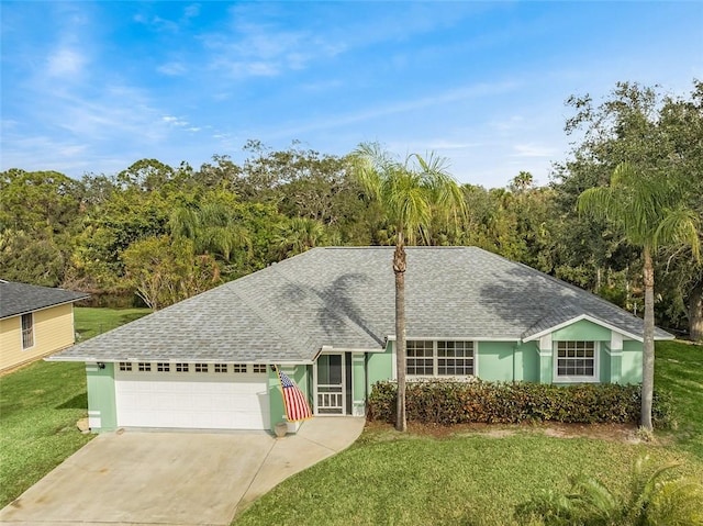
[[[393,272],[395,272],[395,377],[398,379],[398,410],[395,429],[405,432],[405,243],[402,231],[398,232],[398,243],[393,253]]]

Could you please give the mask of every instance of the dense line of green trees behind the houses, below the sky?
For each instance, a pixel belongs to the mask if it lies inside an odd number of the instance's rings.
[[[475,245],[590,290],[640,315],[643,254],[617,220],[578,210],[626,164],[677,190],[668,204],[703,222],[703,82],[685,96],[632,82],[600,101],[572,97],[572,148],[550,181],[516,174],[506,188],[460,186],[460,221],[433,215],[411,242]],[[142,159],[80,180],[55,171],[0,174],[0,278],[88,291],[96,304],[161,309],[314,246],[394,245],[397,225],[354,155],[257,141],[235,163],[199,168]],[[646,175],[646,177],[645,177]],[[655,316],[703,339],[703,266],[685,245],[656,248]]]

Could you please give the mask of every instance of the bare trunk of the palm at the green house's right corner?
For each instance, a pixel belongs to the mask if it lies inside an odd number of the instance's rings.
[[[643,335],[640,425],[651,430],[651,401],[655,389],[655,268],[649,247],[644,248],[645,333]]]

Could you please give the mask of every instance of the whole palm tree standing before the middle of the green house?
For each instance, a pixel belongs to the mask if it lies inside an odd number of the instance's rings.
[[[395,230],[395,369],[398,412],[395,428],[404,432],[405,419],[405,243],[426,238],[433,215],[459,220],[466,215],[464,195],[445,169],[445,159],[417,154],[404,160],[384,152],[377,143],[362,143],[353,153],[355,174],[371,199],[379,201],[387,221]]]

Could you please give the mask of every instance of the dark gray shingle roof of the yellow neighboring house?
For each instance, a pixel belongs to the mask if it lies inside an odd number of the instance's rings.
[[[89,296],[83,292],[0,280],[0,320]]]

